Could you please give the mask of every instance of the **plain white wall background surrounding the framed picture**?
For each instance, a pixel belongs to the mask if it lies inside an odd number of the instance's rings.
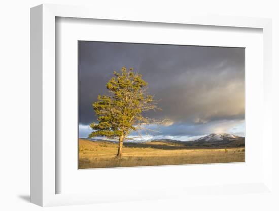
[[[107,7],[127,8],[153,13],[156,10],[201,14],[238,15],[265,17],[273,19],[273,93],[274,124],[278,119],[279,66],[274,61],[279,58],[279,6],[274,0],[191,0],[191,1],[86,1],[86,0],[4,0],[0,3],[0,209],[1,210],[39,210],[37,205],[29,203],[29,8],[39,4],[91,5],[104,13]],[[170,12],[171,11],[171,12]],[[276,123],[276,125],[278,125]],[[274,134],[276,131],[274,131]],[[273,146],[278,148],[278,143]],[[276,152],[276,151],[274,151]],[[277,155],[274,158],[278,158]],[[276,178],[279,178],[278,169]],[[275,185],[278,182],[274,180]],[[277,186],[278,187],[278,186]],[[278,190],[278,188],[277,188]],[[83,206],[50,207],[50,210],[200,210],[206,204],[207,210],[278,210],[272,205],[274,198],[253,196],[220,196],[219,201],[209,197],[195,201],[164,200],[129,203],[110,203]],[[275,204],[275,203],[274,203]]]

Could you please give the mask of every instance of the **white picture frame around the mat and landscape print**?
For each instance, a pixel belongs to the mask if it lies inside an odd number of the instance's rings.
[[[142,21],[170,24],[194,24],[223,27],[247,27],[263,30],[263,137],[262,149],[263,180],[259,183],[213,184],[211,191],[220,193],[221,190],[234,194],[243,194],[249,189],[253,193],[272,194],[272,99],[271,99],[271,20],[247,17],[218,17],[218,16],[172,16],[164,14],[142,15],[142,13],[125,13],[119,11],[103,11],[90,7],[40,5],[31,9],[31,202],[41,206],[99,203],[109,201],[151,200],[199,194],[205,189],[197,187],[167,187],[162,193],[158,190],[140,190],[136,193],[126,193],[115,196],[115,192],[56,194],[55,177],[57,147],[55,139],[56,115],[56,86],[55,78],[55,18],[87,18],[104,20]],[[144,197],[143,197],[144,196]]]

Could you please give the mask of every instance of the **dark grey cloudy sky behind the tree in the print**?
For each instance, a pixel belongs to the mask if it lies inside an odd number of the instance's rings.
[[[97,122],[92,103],[122,66],[142,74],[149,94],[161,99],[162,111],[148,115],[170,119],[146,139],[245,136],[245,49],[79,41],[80,137]]]

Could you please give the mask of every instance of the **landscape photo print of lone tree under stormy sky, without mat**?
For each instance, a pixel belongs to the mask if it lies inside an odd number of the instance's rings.
[[[245,48],[78,41],[79,169],[245,162]]]

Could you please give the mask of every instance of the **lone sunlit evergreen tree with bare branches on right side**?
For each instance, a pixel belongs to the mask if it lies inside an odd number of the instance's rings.
[[[142,75],[133,72],[133,68],[127,72],[122,67],[121,73],[114,72],[114,77],[107,83],[110,94],[98,95],[98,101],[92,104],[98,123],[90,124],[94,131],[89,134],[89,138],[103,136],[118,140],[117,158],[122,156],[124,140],[142,137],[127,137],[131,131],[151,130],[144,125],[166,121],[157,121],[142,115],[149,110],[161,110],[157,107],[158,101],[147,93],[147,85]]]

